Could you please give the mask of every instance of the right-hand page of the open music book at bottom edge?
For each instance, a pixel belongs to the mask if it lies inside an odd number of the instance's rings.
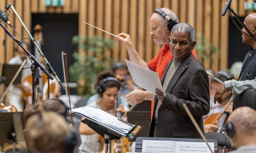
[[[214,143],[208,142],[212,151],[214,151]],[[176,142],[176,153],[211,153],[205,142]]]

